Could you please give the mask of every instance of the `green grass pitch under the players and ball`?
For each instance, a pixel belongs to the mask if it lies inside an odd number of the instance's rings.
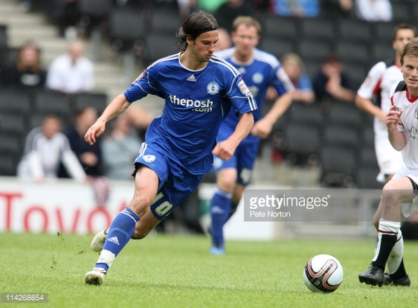
[[[163,234],[131,240],[96,286],[84,283],[98,257],[92,237],[0,233],[0,293],[49,293],[47,304],[18,307],[417,307],[415,241],[405,242],[410,288],[358,282],[372,239],[228,241],[227,255],[213,256],[205,236]],[[330,294],[310,292],[302,278],[308,259],[322,253],[344,269]]]

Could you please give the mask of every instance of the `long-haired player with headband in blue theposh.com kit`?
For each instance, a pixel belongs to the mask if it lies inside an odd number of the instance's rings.
[[[177,37],[181,51],[146,68],[85,135],[87,143],[93,144],[106,122],[148,94],[165,99],[163,113],[148,127],[134,162],[132,201],[107,233],[95,236],[104,245],[94,269],[84,276],[86,283],[101,285],[129,239],[144,238],[194,191],[203,174],[212,171],[213,155],[229,160],[253,127],[257,109],[253,95],[241,74],[213,55],[218,41],[213,15],[191,13]],[[227,139],[217,143],[217,131],[229,110],[234,110],[239,122]]]

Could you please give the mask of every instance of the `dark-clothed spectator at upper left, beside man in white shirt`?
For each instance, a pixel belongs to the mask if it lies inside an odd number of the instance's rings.
[[[40,51],[32,42],[20,47],[15,63],[4,72],[3,82],[9,86],[44,88],[46,70],[42,68]]]

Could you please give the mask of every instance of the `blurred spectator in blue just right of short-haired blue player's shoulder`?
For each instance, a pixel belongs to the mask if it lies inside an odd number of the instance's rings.
[[[281,56],[280,63],[295,87],[293,100],[303,103],[313,103],[315,101],[315,91],[310,77],[305,73],[305,65],[303,64],[302,58],[296,53],[286,53]]]

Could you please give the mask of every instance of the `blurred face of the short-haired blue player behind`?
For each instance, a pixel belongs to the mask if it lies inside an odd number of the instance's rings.
[[[257,46],[259,40],[257,28],[253,26],[239,25],[232,32],[232,41],[234,41],[236,53],[243,58],[248,58],[253,54],[253,49]]]

